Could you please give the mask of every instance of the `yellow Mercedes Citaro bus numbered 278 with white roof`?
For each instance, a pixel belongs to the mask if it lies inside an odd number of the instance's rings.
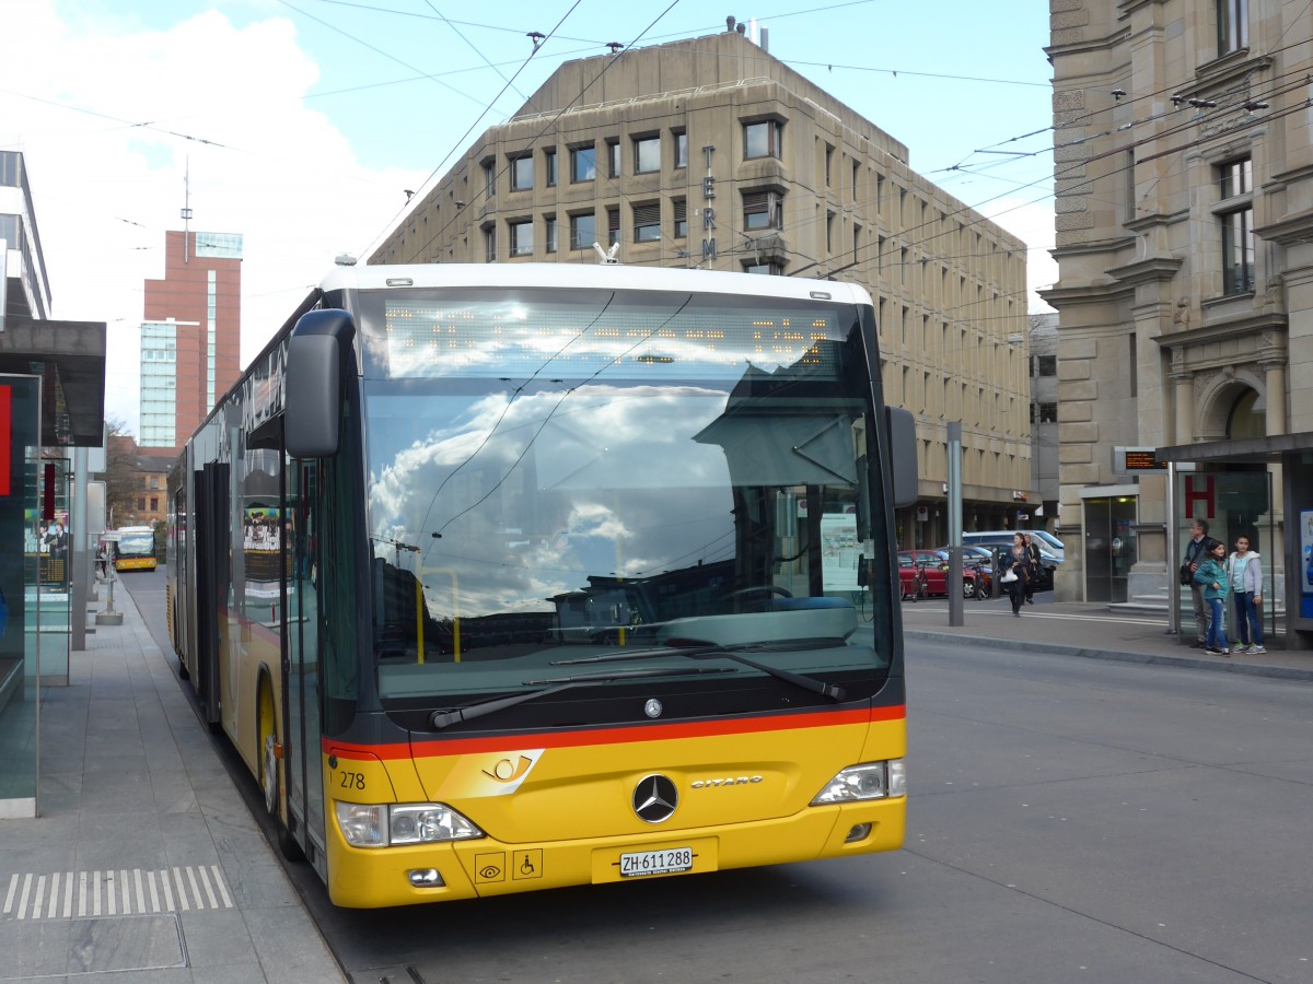
[[[850,283],[340,266],[169,482],[181,672],[343,907],[894,850],[911,417]]]

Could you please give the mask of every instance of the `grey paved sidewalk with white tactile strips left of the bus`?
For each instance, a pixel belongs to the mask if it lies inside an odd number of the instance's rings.
[[[41,816],[0,820],[0,980],[344,981],[172,660],[117,594],[123,623],[95,626],[70,685],[42,690]]]

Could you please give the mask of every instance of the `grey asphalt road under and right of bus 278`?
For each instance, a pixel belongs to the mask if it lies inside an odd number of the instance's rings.
[[[895,854],[385,912],[293,875],[356,981],[1313,981],[1313,686],[913,643],[909,694]]]

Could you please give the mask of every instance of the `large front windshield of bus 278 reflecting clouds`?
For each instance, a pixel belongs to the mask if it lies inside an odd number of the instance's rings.
[[[596,676],[592,656],[671,673],[680,647],[877,686],[888,647],[857,632],[890,610],[863,563],[886,542],[869,308],[605,290],[361,308],[385,706]]]

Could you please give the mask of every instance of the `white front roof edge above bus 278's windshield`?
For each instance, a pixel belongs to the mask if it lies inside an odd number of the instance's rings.
[[[335,266],[323,290],[386,290],[387,287],[566,287],[675,290],[700,294],[752,294],[869,304],[856,283],[756,273],[625,266],[624,264],[410,264],[398,266]]]

